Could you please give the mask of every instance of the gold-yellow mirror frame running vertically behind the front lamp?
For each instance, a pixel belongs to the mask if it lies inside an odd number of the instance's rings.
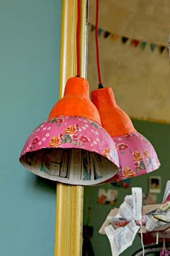
[[[86,78],[87,0],[81,1],[80,67]],[[76,0],[62,1],[59,97],[69,77],[76,74]],[[84,187],[57,184],[55,256],[80,256],[82,248]]]

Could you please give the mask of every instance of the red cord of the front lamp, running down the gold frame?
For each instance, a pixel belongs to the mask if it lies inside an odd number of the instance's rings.
[[[77,0],[77,27],[76,27],[76,57],[77,57],[77,75],[80,77],[80,0]]]

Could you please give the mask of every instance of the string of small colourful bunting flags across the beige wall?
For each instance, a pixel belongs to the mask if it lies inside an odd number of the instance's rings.
[[[91,28],[91,32],[94,32],[95,30],[95,26],[91,23],[89,23],[89,26]],[[122,36],[122,35],[117,35],[114,33],[111,33],[107,30],[104,30],[103,28],[99,27],[98,29],[98,35],[103,35],[104,38],[111,38],[112,40],[114,40],[115,42],[120,38],[120,40],[122,41],[122,43],[128,43],[128,41],[130,40],[130,44],[134,47],[139,47],[142,51],[146,48],[146,46],[150,46],[151,52],[155,51],[156,48],[158,48],[158,51],[160,54],[163,53],[163,51],[167,51],[167,53],[169,53],[169,49],[167,46],[160,46],[156,43],[148,43],[146,41],[142,41],[142,40],[137,40],[137,39],[131,39],[128,38],[126,36]]]

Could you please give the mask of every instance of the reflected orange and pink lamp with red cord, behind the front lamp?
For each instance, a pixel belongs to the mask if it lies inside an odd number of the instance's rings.
[[[95,40],[99,89],[91,92],[91,99],[99,111],[102,127],[107,130],[117,147],[120,169],[115,176],[107,180],[112,182],[154,171],[160,163],[151,142],[135,130],[130,117],[117,106],[112,88],[103,88],[99,69],[97,34],[99,0],[96,0],[96,3]]]

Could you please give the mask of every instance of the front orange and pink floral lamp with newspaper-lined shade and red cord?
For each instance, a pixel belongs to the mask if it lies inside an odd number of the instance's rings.
[[[80,7],[77,27],[79,12]],[[63,98],[28,137],[19,161],[46,179],[92,185],[115,175],[119,160],[115,143],[102,128],[97,108],[89,99],[89,83],[79,77],[78,45],[78,75],[68,79]]]

